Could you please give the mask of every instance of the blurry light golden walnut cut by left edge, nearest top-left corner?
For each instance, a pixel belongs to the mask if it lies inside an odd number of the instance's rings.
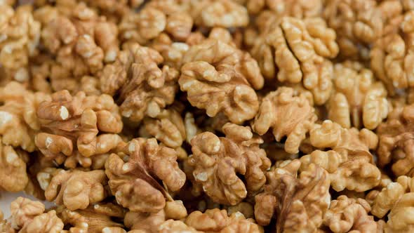
[[[34,20],[32,6],[13,7],[0,3],[0,85],[4,81],[29,81],[29,58],[38,53],[41,24]],[[1,85],[3,86],[3,85]]]

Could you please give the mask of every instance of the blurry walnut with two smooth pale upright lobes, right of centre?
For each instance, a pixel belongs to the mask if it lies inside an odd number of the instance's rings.
[[[359,62],[334,66],[334,93],[328,101],[328,118],[344,128],[373,130],[387,117],[387,90]]]

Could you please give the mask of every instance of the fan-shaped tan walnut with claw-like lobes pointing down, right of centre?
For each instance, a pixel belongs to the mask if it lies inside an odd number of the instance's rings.
[[[316,119],[314,107],[305,95],[295,93],[293,88],[280,87],[262,99],[252,128],[260,135],[272,128],[276,141],[280,142],[286,137],[286,152],[295,154],[299,152],[300,143]]]

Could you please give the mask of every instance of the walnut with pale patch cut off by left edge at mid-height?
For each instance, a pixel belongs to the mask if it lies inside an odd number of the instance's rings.
[[[0,87],[0,135],[2,143],[33,152],[34,133],[39,130],[36,107],[50,100],[44,93],[27,91],[22,84],[11,81]]]

